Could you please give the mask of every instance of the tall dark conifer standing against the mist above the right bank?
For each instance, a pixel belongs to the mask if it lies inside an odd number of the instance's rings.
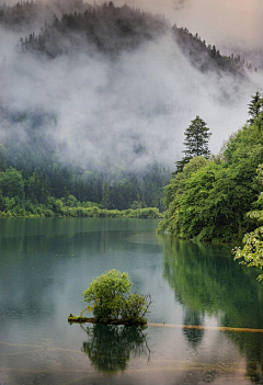
[[[185,157],[179,160],[176,166],[176,171],[183,171],[184,166],[190,161],[190,159],[198,156],[208,158],[210,151],[208,149],[208,140],[210,137],[209,128],[206,126],[206,122],[203,121],[198,115],[191,121],[191,125],[186,128],[184,145],[186,149],[183,151]]]

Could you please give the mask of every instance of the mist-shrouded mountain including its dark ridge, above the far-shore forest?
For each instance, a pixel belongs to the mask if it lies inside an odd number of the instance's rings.
[[[0,36],[1,157],[28,173],[56,163],[114,183],[159,167],[161,189],[190,122],[217,154],[262,84],[248,58],[126,4],[2,3]]]

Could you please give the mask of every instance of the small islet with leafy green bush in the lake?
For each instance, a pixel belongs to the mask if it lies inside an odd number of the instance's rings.
[[[69,315],[70,324],[91,322],[125,326],[144,326],[146,314],[151,304],[150,294],[129,293],[132,282],[126,272],[112,269],[95,280],[84,291],[83,297],[88,306],[79,316]],[[93,313],[93,317],[83,317],[84,313]]]

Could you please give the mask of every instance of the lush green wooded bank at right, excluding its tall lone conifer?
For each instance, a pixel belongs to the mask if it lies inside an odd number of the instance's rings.
[[[263,99],[256,92],[249,122],[231,135],[221,152],[188,158],[165,186],[165,218],[160,231],[186,239],[233,241],[255,224],[247,212],[261,207],[256,168],[263,162]]]

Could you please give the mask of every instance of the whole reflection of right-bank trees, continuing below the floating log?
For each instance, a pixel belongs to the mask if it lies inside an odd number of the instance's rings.
[[[203,325],[205,315],[220,317],[220,325],[262,329],[263,285],[258,271],[242,269],[233,261],[230,246],[204,245],[163,237],[163,275],[184,306],[185,325]],[[225,332],[247,358],[247,375],[263,382],[263,333]],[[193,348],[202,330],[184,329]]]

